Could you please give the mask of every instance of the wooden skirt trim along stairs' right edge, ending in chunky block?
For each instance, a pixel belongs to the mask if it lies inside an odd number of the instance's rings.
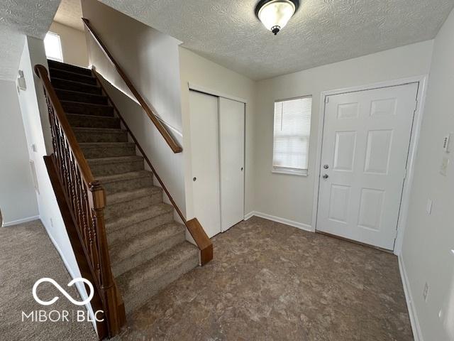
[[[138,150],[142,154],[143,158],[145,159],[145,162],[148,163],[148,166],[150,167],[151,171],[155,175],[156,180],[160,183],[162,190],[164,190],[165,194],[169,198],[170,202],[172,203],[172,206],[175,208],[177,211],[177,214],[181,218],[181,220],[184,222],[186,225],[189,233],[192,235],[192,238],[194,238],[194,242],[196,242],[197,247],[199,247],[200,250],[200,263],[201,265],[205,265],[211,259],[213,259],[213,243],[209,239],[208,235],[206,235],[204,228],[201,226],[199,220],[196,218],[187,221],[186,217],[184,217],[182,211],[179,209],[177,203],[173,199],[172,195],[170,194],[169,190],[165,187],[164,182],[162,182],[161,178],[159,175],[157,175],[155,168],[153,167],[153,164],[150,162],[150,159],[148,156],[145,154],[145,151],[143,150],[142,146],[140,146],[139,141],[135,138],[133,132],[131,129],[129,129],[128,124],[126,123],[125,119],[121,115],[121,112],[118,110],[116,107],[114,101],[112,101],[111,97],[109,96],[109,93],[106,91],[106,88],[101,82],[101,77],[99,76],[98,72],[96,72],[96,68],[93,66],[93,75],[96,77],[96,80],[98,80],[98,84],[102,89],[102,92],[104,95],[109,99],[109,102],[112,107],[114,107],[114,111],[118,115],[118,118],[120,119],[121,123],[123,126],[126,128],[128,131],[128,134],[131,136],[131,139],[133,139],[135,146],[137,146]]]

